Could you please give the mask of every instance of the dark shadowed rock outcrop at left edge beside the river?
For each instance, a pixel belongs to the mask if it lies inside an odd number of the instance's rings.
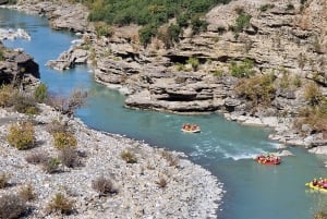
[[[22,49],[9,50],[0,44],[0,84],[31,85],[39,80],[38,64]]]

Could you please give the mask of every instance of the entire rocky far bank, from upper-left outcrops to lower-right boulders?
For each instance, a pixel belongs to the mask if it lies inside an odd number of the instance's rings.
[[[22,2],[20,9],[25,7]],[[48,14],[49,5],[41,2],[33,8]],[[235,33],[241,14],[251,16],[250,24]],[[193,36],[191,29],[184,29],[180,42],[169,49],[157,38],[147,48],[142,47],[138,26],[117,27],[111,37],[97,38],[88,24],[77,49],[70,49],[59,58],[59,64],[51,64],[65,69],[74,65],[74,60],[93,63],[98,82],[129,95],[126,107],[175,113],[220,111],[244,124],[274,126],[274,139],[326,153],[326,134],[302,135],[293,129],[299,111],[307,105],[305,85],[315,82],[327,96],[326,14],[324,0],[232,1],[206,14],[207,32]],[[49,17],[52,24],[60,20]],[[87,25],[85,16],[75,23]],[[85,48],[87,51],[77,59]],[[191,58],[198,61],[196,68],[189,63]],[[276,77],[268,107],[253,106],[235,92],[240,80],[231,76],[232,64],[241,65],[246,60],[254,63],[256,75],[274,73]]]

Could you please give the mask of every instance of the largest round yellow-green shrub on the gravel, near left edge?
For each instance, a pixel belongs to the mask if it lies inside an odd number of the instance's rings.
[[[29,149],[34,147],[35,134],[32,122],[21,122],[9,127],[7,141],[17,149]]]

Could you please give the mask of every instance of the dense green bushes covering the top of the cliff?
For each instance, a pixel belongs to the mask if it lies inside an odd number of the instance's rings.
[[[138,24],[144,26],[140,32],[141,42],[146,46],[153,34],[157,35],[157,29],[162,24],[167,24],[171,19],[177,17],[179,28],[192,25],[194,34],[205,31],[207,24],[198,17],[219,3],[228,3],[230,0],[126,0],[126,1],[85,1],[89,7],[88,20],[92,22],[106,22],[114,25]],[[190,21],[193,21],[190,23]],[[147,27],[145,27],[147,26]],[[156,29],[156,32],[150,31]]]

